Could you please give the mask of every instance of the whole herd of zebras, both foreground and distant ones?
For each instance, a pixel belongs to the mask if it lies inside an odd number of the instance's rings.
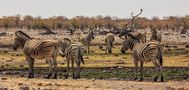
[[[122,31],[119,37],[124,40],[121,52],[124,53],[128,49],[132,51],[133,62],[135,65],[135,78],[137,80],[138,75],[138,63],[140,62],[140,78],[143,80],[143,63],[153,62],[156,67],[156,75],[154,81],[157,81],[160,77],[160,81],[163,81],[162,75],[162,50],[160,46],[161,37],[157,35],[156,29],[153,29],[153,35],[151,36],[151,41],[146,42],[145,33],[139,33],[136,31]],[[67,72],[65,78],[69,76],[69,69],[71,63],[72,78],[80,78],[80,64],[84,63],[83,60],[83,45],[86,47],[87,53],[90,52],[90,43],[94,39],[94,32],[90,30],[87,35],[81,38],[77,42],[71,42],[70,39],[58,39],[58,40],[39,40],[30,37],[23,31],[16,31],[14,38],[13,49],[18,48],[23,49],[26,56],[26,61],[29,66],[28,78],[34,77],[34,61],[35,59],[46,59],[49,64],[49,72],[46,78],[57,78],[57,55],[60,54],[65,56],[67,62]],[[106,42],[106,53],[112,53],[112,47],[114,40],[114,35],[108,35],[105,38]],[[74,63],[76,64],[77,72],[74,72]]]

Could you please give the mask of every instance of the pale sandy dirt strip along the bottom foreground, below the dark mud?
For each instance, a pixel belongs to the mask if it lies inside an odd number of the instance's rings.
[[[95,79],[40,79],[1,77],[0,90],[188,90],[188,81],[135,82]]]

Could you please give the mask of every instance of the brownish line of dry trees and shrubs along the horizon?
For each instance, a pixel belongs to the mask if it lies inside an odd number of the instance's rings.
[[[93,28],[96,30],[103,29],[126,29],[129,27],[128,22],[131,18],[117,18],[111,16],[85,17],[76,16],[67,18],[65,16],[53,16],[49,18],[33,17],[31,15],[21,16],[3,16],[0,18],[0,28],[26,28],[27,30],[41,30],[48,28],[50,30],[85,30]],[[185,32],[189,29],[189,15],[187,16],[169,16],[162,19],[153,17],[137,17],[134,22],[136,29],[145,29],[156,27],[160,30],[175,30]]]

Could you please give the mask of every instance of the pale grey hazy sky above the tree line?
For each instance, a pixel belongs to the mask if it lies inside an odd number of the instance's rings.
[[[189,0],[0,0],[0,17],[32,15],[115,16],[129,18],[143,9],[142,17],[189,15]]]

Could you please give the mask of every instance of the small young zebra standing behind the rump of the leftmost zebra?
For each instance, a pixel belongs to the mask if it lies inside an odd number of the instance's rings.
[[[83,54],[82,54],[82,47],[79,44],[71,44],[71,41],[67,38],[64,38],[63,40],[59,40],[60,44],[60,52],[61,54],[66,56],[67,61],[67,72],[65,75],[65,78],[68,78],[69,75],[69,63],[71,62],[71,69],[72,69],[72,77],[74,79],[80,78],[80,63],[84,63],[83,60]],[[77,65],[77,74],[75,76],[74,74],[74,62]]]

